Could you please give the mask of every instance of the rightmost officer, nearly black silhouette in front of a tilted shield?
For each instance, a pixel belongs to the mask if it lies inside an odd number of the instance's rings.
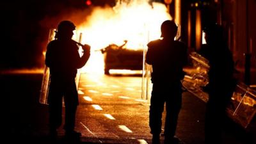
[[[205,143],[221,143],[221,129],[227,120],[226,108],[234,92],[234,61],[228,49],[223,28],[209,24],[205,29],[205,41],[200,54],[209,60],[209,84],[205,90],[209,101],[205,111]]]

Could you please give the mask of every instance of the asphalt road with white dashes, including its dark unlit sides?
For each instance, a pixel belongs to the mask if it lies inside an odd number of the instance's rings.
[[[40,73],[1,74],[3,126],[10,143],[47,143],[48,108],[38,102],[41,81]],[[81,74],[76,123],[81,143],[151,143],[149,102],[140,98],[140,76]],[[186,144],[203,144],[205,102],[189,92],[182,100],[177,137]],[[225,143],[253,144],[250,133],[230,125]],[[61,139],[62,127],[58,131]]]

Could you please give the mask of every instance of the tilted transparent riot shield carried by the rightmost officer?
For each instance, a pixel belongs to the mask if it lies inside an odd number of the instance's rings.
[[[204,92],[202,87],[208,84],[209,61],[200,54],[191,52],[189,55],[193,67],[184,69],[186,76],[182,80],[182,85],[186,90],[193,93],[196,97],[207,102],[208,93]],[[256,92],[246,84],[239,82],[227,106],[227,115],[237,124],[246,129],[252,122],[256,113]]]

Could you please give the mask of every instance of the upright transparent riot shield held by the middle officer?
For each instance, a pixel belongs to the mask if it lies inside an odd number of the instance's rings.
[[[180,40],[180,25],[177,24],[177,35],[175,36],[175,40]],[[149,33],[148,33],[149,35]],[[149,36],[148,36],[149,37]],[[149,42],[149,40],[148,40]],[[148,47],[143,47],[143,70],[142,70],[142,84],[141,84],[141,99],[150,99],[152,92],[152,83],[151,83],[151,73],[152,73],[152,65],[148,65],[146,63],[146,54]],[[164,66],[163,66],[164,67]]]

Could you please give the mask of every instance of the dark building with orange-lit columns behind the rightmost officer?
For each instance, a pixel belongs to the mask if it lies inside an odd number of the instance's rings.
[[[256,84],[255,0],[173,0],[170,13],[181,25],[182,40],[189,51],[202,44],[202,28],[208,22],[221,24],[232,51],[241,80]]]

